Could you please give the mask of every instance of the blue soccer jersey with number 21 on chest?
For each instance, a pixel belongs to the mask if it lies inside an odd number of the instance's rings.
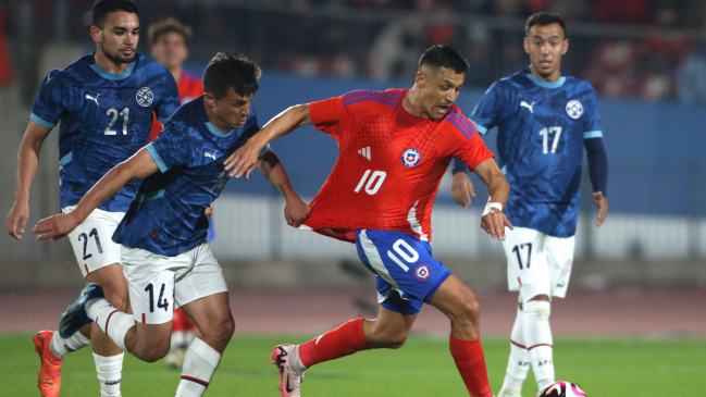
[[[166,121],[179,104],[172,74],[139,54],[121,74],[103,71],[92,53],[49,72],[30,119],[47,128],[61,121],[61,207],[77,204],[108,171],[147,145],[152,113]],[[98,208],[127,211],[138,186],[126,184]]]

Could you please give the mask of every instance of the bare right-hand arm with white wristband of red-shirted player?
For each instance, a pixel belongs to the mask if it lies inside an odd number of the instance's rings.
[[[493,238],[505,240],[505,226],[515,228],[503,212],[510,196],[510,184],[494,159],[483,161],[473,171],[487,185],[488,193],[488,203],[481,216],[481,227]]]

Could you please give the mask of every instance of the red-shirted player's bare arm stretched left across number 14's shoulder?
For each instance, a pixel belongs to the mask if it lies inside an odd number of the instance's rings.
[[[258,156],[269,142],[307,124],[312,124],[308,103],[297,104],[277,114],[225,160],[225,170],[231,170],[228,175],[232,177],[245,175],[246,179],[249,179],[250,173],[257,165]]]

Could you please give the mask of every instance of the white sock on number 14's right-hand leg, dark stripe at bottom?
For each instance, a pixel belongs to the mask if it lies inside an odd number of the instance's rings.
[[[206,342],[195,338],[184,357],[182,381],[174,397],[201,397],[221,362],[221,353]]]

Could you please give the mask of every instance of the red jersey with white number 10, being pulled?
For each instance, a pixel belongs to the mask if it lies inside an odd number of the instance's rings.
[[[306,226],[355,241],[362,228],[431,241],[438,185],[454,158],[473,170],[493,158],[473,123],[453,106],[441,120],[397,128],[407,90],[352,91],[309,104],[317,129],[338,141],[336,165],[311,201]]]

